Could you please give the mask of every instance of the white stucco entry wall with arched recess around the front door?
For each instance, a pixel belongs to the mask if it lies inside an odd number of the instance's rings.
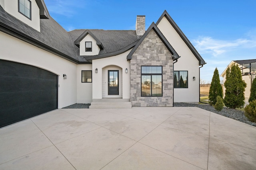
[[[96,59],[92,61],[92,98],[93,99],[102,99],[102,86],[106,84],[107,86],[108,82],[103,82],[102,76],[104,75],[105,80],[106,78],[106,72],[107,70],[112,70],[115,68],[116,70],[119,70],[119,76],[121,76],[122,84],[119,87],[122,89],[121,95],[122,96],[104,96],[106,98],[108,97],[120,97],[123,99],[130,99],[130,61],[127,61],[126,57],[130,53],[131,50],[126,51],[125,53],[122,53],[120,55],[107,57],[103,59]],[[108,67],[109,68],[106,68]],[[95,73],[95,69],[98,68],[98,73]],[[128,69],[128,73],[125,72],[125,69]],[[103,72],[104,71],[104,72]],[[106,94],[106,93],[105,93]],[[119,91],[120,94],[120,91]]]

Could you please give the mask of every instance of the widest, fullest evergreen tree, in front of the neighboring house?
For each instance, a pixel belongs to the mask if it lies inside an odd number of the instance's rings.
[[[238,65],[234,64],[231,69],[227,69],[224,86],[226,88],[224,104],[233,109],[243,107],[246,83],[242,80],[242,73]]]

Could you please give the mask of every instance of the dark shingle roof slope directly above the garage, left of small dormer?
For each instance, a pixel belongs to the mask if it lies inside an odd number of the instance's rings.
[[[0,6],[0,30],[78,63],[68,32],[54,19],[40,19],[40,32],[11,16]]]

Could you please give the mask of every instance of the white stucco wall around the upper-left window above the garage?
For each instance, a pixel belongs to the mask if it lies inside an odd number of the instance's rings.
[[[18,11],[18,0],[0,0],[6,12],[40,32],[40,13],[35,0],[31,1],[31,20]]]

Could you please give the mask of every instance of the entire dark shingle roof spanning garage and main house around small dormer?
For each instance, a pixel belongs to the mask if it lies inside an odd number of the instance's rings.
[[[47,9],[46,9],[47,10]],[[40,19],[40,32],[11,16],[0,6],[0,31],[8,33],[37,47],[64,57],[74,63],[88,63],[91,59],[118,55],[134,47],[140,39],[134,30],[90,29],[90,32],[102,43],[104,49],[96,56],[80,56],[74,41],[86,29],[67,32],[50,16]],[[87,61],[86,58],[89,58]]]

